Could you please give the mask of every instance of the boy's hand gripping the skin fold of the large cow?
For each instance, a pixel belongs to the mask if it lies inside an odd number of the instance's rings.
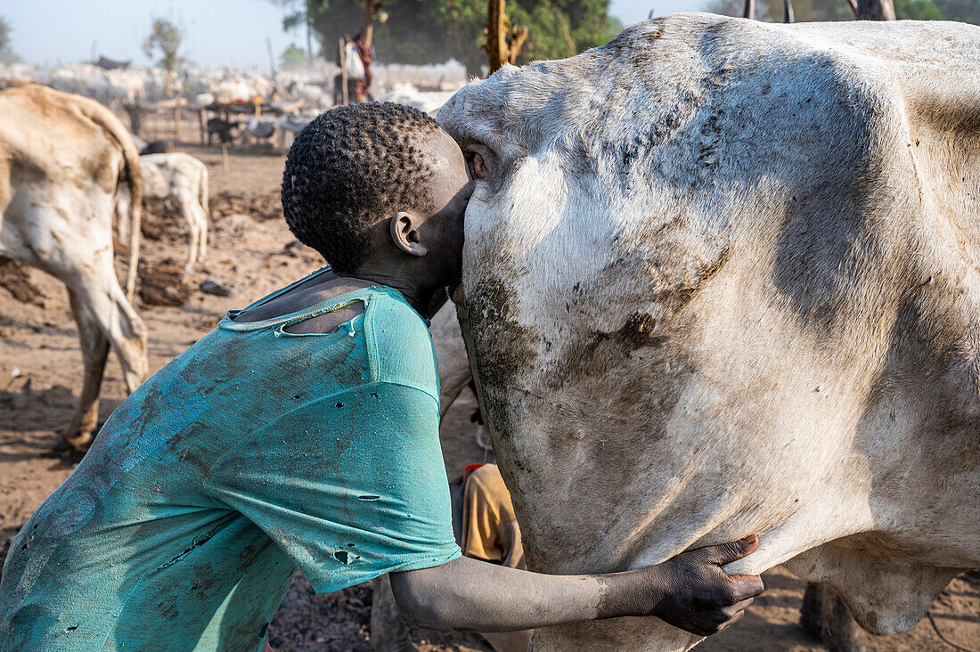
[[[691,550],[651,567],[660,599],[653,616],[673,627],[710,636],[745,616],[764,586],[759,576],[729,576],[721,566],[750,554],[759,538]]]

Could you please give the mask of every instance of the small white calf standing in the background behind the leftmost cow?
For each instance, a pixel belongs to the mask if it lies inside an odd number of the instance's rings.
[[[190,154],[173,152],[144,154],[139,169],[147,207],[179,212],[187,223],[187,272],[192,272],[208,253],[208,167]]]

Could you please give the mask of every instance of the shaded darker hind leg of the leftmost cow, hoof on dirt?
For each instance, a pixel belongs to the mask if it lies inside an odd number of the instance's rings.
[[[81,360],[85,367],[81,385],[81,396],[72,419],[72,425],[62,432],[63,446],[73,450],[84,450],[92,442],[92,436],[99,419],[99,388],[106,371],[109,358],[109,338],[96,320],[84,308],[77,294],[69,289],[74,322],[78,325],[78,341]]]

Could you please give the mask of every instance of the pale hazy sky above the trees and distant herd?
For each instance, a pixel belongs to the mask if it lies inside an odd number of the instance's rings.
[[[612,14],[624,25],[658,15],[698,10],[705,0],[613,0]],[[268,68],[266,37],[276,57],[305,35],[282,30],[282,9],[269,0],[16,0],[3,3],[0,16],[14,28],[13,47],[26,62],[87,61],[93,42],[111,59],[148,63],[141,43],[151,20],[165,16],[186,28],[185,54],[205,66]],[[379,48],[381,61],[384,51]]]

